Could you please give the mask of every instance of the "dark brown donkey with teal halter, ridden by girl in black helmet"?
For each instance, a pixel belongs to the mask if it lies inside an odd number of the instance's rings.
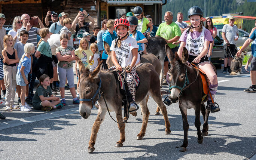
[[[179,101],[179,108],[182,114],[184,130],[184,139],[183,144],[180,147],[180,151],[186,151],[186,147],[188,146],[189,129],[187,109],[194,108],[195,110],[195,127],[197,129],[197,142],[199,144],[201,144],[203,141],[202,136],[208,135],[208,116],[210,114],[210,111],[206,110],[204,105],[204,102],[207,101],[207,98],[205,98],[205,101],[202,102],[202,97],[204,96],[204,93],[202,89],[201,77],[197,76],[197,71],[195,68],[186,65],[186,62],[188,60],[188,50],[185,47],[183,47],[182,58],[180,59],[179,56],[177,55],[177,52],[173,54],[168,45],[166,45],[165,47],[165,49],[167,50],[168,59],[171,64],[170,70],[167,73],[169,76],[170,86],[176,86],[173,88],[169,87],[171,93],[169,99],[173,103]],[[190,82],[187,88],[184,87],[184,84],[186,84],[187,82],[186,79],[188,79],[188,81]],[[202,132],[200,130],[200,111],[204,118]]]

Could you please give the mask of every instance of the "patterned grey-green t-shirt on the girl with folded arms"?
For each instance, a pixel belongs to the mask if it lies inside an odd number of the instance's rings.
[[[63,48],[63,47],[58,47],[56,48],[56,53],[57,52],[60,52],[61,56],[65,56],[65,55],[71,55],[71,51],[74,50],[73,47],[71,46],[67,46],[67,48]],[[72,61],[59,61],[58,62],[58,66],[61,67],[61,68],[71,68],[73,67],[73,63]]]

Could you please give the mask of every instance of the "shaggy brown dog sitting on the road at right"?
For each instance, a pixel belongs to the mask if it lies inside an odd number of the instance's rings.
[[[246,54],[247,52],[243,51],[239,57],[235,56],[233,58],[230,66],[230,69],[231,69],[230,75],[238,75],[243,73],[241,67],[243,65],[243,59]]]

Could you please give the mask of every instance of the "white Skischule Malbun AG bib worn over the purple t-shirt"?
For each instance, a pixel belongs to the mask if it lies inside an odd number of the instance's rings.
[[[198,56],[204,49],[204,31],[203,27],[201,35],[197,39],[192,39],[191,32],[188,33],[186,49],[188,49],[189,55]]]

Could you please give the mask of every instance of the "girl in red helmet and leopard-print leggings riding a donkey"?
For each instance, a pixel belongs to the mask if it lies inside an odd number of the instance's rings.
[[[132,96],[129,112],[134,113],[138,110],[138,105],[135,104],[135,83],[134,77],[136,74],[136,64],[139,63],[138,58],[138,44],[135,39],[128,36],[129,21],[124,18],[120,18],[115,21],[114,27],[116,29],[118,39],[112,41],[110,50],[112,56],[112,62],[114,64],[111,68],[122,71],[122,67],[129,65],[127,72],[127,84],[129,92]]]

